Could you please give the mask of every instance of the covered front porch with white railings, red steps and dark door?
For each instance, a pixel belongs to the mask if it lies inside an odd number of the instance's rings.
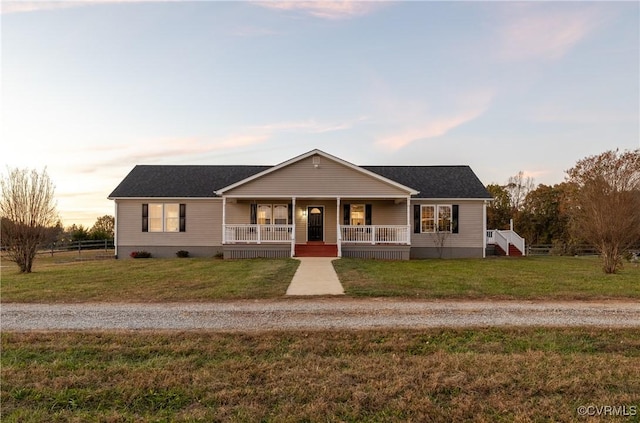
[[[409,201],[223,198],[224,257],[408,259]]]

